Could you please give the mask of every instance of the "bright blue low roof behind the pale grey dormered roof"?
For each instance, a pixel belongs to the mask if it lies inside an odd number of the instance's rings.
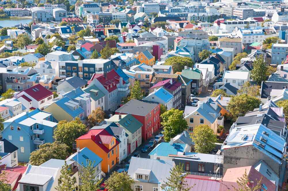
[[[179,145],[179,149],[177,148],[177,145]],[[175,148],[176,146],[176,148]],[[166,156],[168,155],[177,155],[178,152],[184,152],[185,144],[180,143],[173,143],[173,145],[170,145],[170,143],[160,143],[157,145],[150,153],[149,155],[157,155],[157,156]]]

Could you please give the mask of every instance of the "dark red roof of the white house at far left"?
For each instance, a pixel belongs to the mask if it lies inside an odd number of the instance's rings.
[[[30,95],[32,98],[34,98],[37,101],[43,100],[44,98],[47,98],[50,95],[53,95],[51,91],[43,87],[41,84],[37,84],[32,87],[29,87],[28,89],[24,89],[23,91],[20,91],[18,94],[23,95],[22,92],[27,93],[28,95]]]

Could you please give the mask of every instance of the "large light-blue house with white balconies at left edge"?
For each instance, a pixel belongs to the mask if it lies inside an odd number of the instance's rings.
[[[3,122],[3,139],[18,147],[18,160],[28,162],[30,153],[39,145],[54,142],[53,135],[58,121],[51,113],[38,108],[23,112]]]

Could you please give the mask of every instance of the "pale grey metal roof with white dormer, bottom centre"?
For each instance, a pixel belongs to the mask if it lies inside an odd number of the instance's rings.
[[[146,158],[138,158],[132,157],[131,162],[128,169],[128,175],[133,178],[135,181],[141,181],[140,179],[136,179],[135,172],[149,172],[149,180],[143,180],[143,182],[158,184],[161,182],[165,184],[167,182],[167,178],[170,176],[170,170],[175,165],[174,161],[164,161],[164,160],[156,160],[156,159],[146,159]]]

